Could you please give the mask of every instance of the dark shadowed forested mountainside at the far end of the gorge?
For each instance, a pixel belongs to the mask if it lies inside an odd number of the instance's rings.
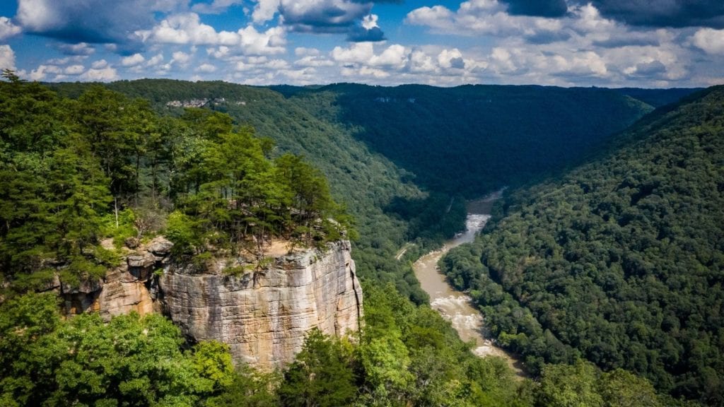
[[[277,88],[413,172],[426,188],[476,198],[561,169],[652,107],[602,88],[355,84]]]

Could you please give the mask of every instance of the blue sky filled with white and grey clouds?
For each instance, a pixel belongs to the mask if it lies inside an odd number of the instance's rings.
[[[0,68],[47,82],[700,87],[724,83],[724,1],[2,0]]]

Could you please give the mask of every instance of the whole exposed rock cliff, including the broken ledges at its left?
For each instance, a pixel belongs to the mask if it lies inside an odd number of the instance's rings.
[[[306,249],[276,256],[256,271],[242,259],[215,261],[203,271],[174,262],[171,243],[156,238],[127,256],[106,278],[54,289],[67,314],[97,311],[104,319],[136,311],[163,312],[190,340],[230,345],[235,364],[259,369],[290,363],[306,332],[327,335],[359,330],[362,290],[346,240],[324,250]]]

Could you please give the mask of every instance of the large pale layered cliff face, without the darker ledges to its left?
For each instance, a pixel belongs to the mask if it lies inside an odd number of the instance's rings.
[[[236,363],[261,369],[292,361],[314,327],[328,335],[358,331],[362,313],[347,241],[277,257],[245,274],[172,266],[159,285],[164,311],[185,335],[227,343]]]

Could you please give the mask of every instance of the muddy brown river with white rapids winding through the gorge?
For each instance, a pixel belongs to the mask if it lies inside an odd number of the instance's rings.
[[[490,219],[490,208],[493,202],[500,198],[501,193],[502,191],[498,191],[485,198],[469,202],[466,231],[448,240],[440,250],[422,256],[413,264],[413,269],[422,289],[430,295],[432,308],[438,311],[447,321],[450,321],[452,327],[458,331],[460,339],[466,342],[473,340],[476,343],[473,353],[481,357],[493,355],[505,358],[516,374],[523,375],[519,362],[486,337],[483,316],[480,311],[473,308],[471,298],[452,288],[445,279],[445,275],[437,267],[437,262],[451,248],[473,241],[476,233]]]

